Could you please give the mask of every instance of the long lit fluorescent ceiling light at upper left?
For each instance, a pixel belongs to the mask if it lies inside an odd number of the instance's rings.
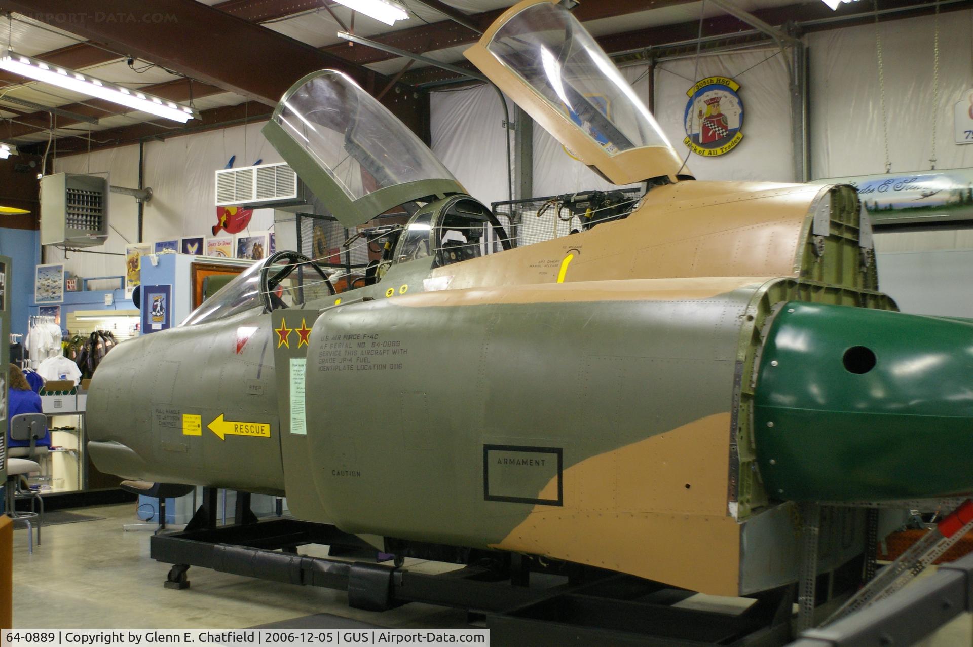
[[[159,117],[185,124],[198,117],[191,108],[163,99],[141,90],[128,90],[107,81],[95,79],[87,74],[75,72],[37,58],[17,54],[7,50],[0,56],[0,69],[19,74],[28,79],[36,79],[65,90],[96,96],[106,101],[114,101],[135,110],[141,110]]]

